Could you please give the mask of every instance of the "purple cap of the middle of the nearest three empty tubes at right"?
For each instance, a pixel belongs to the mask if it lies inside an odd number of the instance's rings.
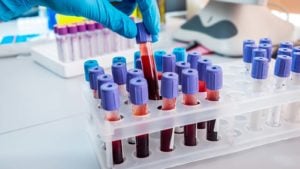
[[[292,57],[278,55],[275,62],[274,74],[278,77],[289,77],[291,74]]]

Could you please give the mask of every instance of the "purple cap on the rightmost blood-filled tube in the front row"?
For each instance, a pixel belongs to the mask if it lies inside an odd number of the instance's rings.
[[[220,90],[223,87],[223,71],[220,66],[209,66],[206,70],[206,88]]]

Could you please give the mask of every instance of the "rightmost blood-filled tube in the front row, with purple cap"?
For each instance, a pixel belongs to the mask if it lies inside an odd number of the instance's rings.
[[[209,66],[206,70],[206,99],[209,101],[219,101],[220,89],[223,86],[223,72],[220,66]],[[218,141],[219,120],[207,121],[206,139],[208,141]]]

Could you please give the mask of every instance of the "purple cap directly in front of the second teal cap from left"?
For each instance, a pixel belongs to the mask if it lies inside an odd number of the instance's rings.
[[[118,85],[126,84],[127,68],[125,63],[123,62],[114,63],[112,65],[111,71],[115,83],[117,83]]]

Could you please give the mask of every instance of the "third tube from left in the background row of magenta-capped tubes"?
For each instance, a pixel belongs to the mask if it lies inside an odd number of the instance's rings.
[[[86,26],[84,23],[77,24],[78,30],[78,38],[79,38],[79,46],[80,46],[80,57],[82,59],[89,57],[89,46],[88,46],[88,38],[86,32]]]

